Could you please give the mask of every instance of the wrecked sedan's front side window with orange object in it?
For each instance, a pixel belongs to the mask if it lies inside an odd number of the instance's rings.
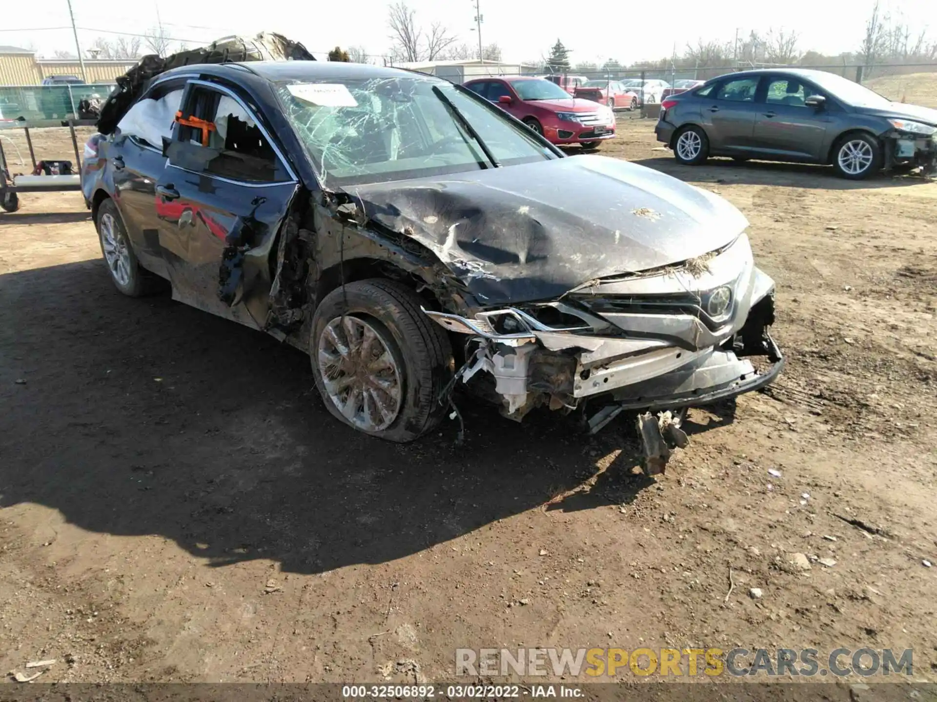
[[[248,183],[289,179],[254,116],[231,95],[194,85],[180,112],[177,139],[204,149],[189,151],[183,168]]]

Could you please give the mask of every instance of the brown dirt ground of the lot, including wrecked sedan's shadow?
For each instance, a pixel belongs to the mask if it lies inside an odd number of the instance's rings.
[[[80,194],[0,214],[0,671],[452,680],[457,647],[869,646],[937,680],[937,183],[680,167],[653,124],[622,116],[602,153],[749,217],[788,359],[693,411],[657,479],[624,422],[464,402],[464,446],[365,438],[301,353],[117,293]]]

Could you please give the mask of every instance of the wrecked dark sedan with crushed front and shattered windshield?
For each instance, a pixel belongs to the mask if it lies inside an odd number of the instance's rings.
[[[781,370],[774,284],[732,205],[566,156],[444,80],[173,68],[87,152],[84,197],[121,292],[166,279],[174,299],[303,349],[329,411],[375,436],[458,417],[456,386],[506,417],[577,410],[598,430],[622,410],[678,418]]]

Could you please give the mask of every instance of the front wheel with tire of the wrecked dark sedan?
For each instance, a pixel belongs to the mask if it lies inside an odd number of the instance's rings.
[[[453,375],[452,346],[422,304],[408,286],[385,279],[349,283],[320,302],[312,318],[309,358],[333,417],[404,444],[446,416],[448,403],[440,398]],[[361,362],[365,344],[372,357],[366,368]]]

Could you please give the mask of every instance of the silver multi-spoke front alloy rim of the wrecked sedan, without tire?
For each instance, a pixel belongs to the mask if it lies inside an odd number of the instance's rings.
[[[354,316],[332,319],[319,337],[326,392],[351,425],[382,431],[400,413],[401,373],[384,332]]]

